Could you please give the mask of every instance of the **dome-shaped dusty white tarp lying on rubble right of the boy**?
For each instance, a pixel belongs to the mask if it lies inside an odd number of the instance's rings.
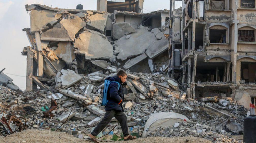
[[[154,131],[159,126],[174,126],[175,123],[182,122],[184,119],[189,121],[186,116],[174,112],[154,113],[148,118],[142,137],[145,137],[147,132]]]

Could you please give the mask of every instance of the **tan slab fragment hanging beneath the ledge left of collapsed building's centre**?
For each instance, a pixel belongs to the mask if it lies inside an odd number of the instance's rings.
[[[71,64],[76,58],[76,55],[74,54],[74,47],[71,45],[71,42],[59,42],[58,48],[54,53],[66,64]]]

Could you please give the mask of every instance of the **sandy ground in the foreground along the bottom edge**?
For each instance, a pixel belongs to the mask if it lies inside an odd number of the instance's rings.
[[[187,140],[187,141],[186,141]],[[0,142],[47,142],[47,143],[57,143],[57,142],[88,142],[85,139],[75,138],[72,135],[68,135],[66,133],[53,132],[49,130],[24,130],[22,132],[14,133],[12,135],[8,135],[7,137],[0,137]],[[176,138],[165,138],[165,137],[149,137],[149,138],[139,138],[130,141],[120,141],[117,143],[144,143],[144,142],[152,142],[152,143],[164,143],[164,142],[206,142],[210,143],[209,140],[203,138],[195,138],[195,137],[176,137]]]

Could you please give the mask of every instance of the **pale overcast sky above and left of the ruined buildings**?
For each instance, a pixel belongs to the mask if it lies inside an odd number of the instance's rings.
[[[13,79],[21,89],[26,89],[26,56],[21,55],[23,47],[30,46],[23,28],[30,27],[28,4],[42,4],[51,7],[96,10],[97,0],[0,0],[0,70]],[[181,1],[175,4],[181,5]],[[144,0],[144,13],[160,9],[169,9],[169,0]],[[17,76],[18,75],[18,76]]]

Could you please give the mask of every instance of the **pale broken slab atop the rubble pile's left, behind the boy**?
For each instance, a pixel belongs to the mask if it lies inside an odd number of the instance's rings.
[[[61,85],[64,88],[68,88],[82,79],[82,77],[79,74],[75,73],[73,70],[62,69],[60,72],[62,73],[62,75],[60,76]]]

